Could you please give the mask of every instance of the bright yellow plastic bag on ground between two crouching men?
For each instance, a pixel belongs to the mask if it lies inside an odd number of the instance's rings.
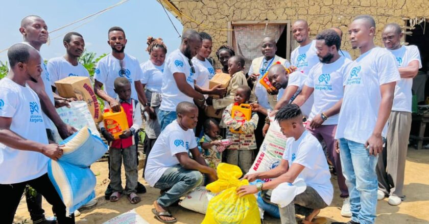
[[[243,175],[240,167],[228,163],[218,165],[218,180],[206,186],[207,190],[216,195],[208,203],[203,224],[243,223],[260,224],[256,198],[252,194],[239,197],[237,187],[249,185],[248,180],[239,180]]]

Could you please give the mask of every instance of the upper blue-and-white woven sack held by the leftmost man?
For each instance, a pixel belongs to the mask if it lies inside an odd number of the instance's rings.
[[[107,145],[103,140],[92,134],[88,127],[80,129],[78,132],[66,138],[60,143],[63,155],[59,161],[67,162],[82,168],[90,166],[107,152]]]

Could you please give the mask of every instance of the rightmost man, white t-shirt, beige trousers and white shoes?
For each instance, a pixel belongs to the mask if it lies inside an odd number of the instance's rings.
[[[411,130],[411,104],[413,78],[421,68],[420,52],[417,46],[403,46],[401,27],[387,24],[383,43],[396,58],[401,79],[396,82],[395,97],[388,120],[386,150],[378,157],[378,200],[386,195],[390,205],[399,205],[405,198],[402,194],[408,138]]]

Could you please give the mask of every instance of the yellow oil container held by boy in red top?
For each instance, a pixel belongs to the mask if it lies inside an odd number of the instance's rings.
[[[121,111],[113,112],[111,109],[105,109],[103,113],[104,127],[110,132],[114,139],[119,139],[123,131],[128,130],[128,120],[124,108]]]

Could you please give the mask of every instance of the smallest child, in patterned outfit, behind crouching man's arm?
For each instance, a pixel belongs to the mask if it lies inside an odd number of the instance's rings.
[[[208,166],[216,170],[222,162],[222,152],[225,150],[225,146],[220,141],[222,136],[219,135],[219,123],[209,118],[205,120],[203,127],[204,135],[200,139],[203,157],[207,160]]]

